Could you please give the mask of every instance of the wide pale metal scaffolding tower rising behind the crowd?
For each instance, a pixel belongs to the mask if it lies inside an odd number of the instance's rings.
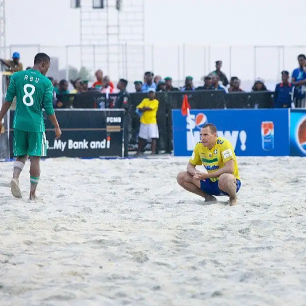
[[[81,0],[81,65],[111,78],[138,78],[144,69],[144,0]],[[141,71],[139,75],[139,71]]]

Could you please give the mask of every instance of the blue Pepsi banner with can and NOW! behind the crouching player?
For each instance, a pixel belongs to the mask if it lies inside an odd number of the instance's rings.
[[[289,109],[191,109],[190,119],[180,109],[172,110],[175,156],[190,156],[207,122],[217,135],[228,139],[237,156],[288,156]],[[306,123],[305,123],[306,124]]]

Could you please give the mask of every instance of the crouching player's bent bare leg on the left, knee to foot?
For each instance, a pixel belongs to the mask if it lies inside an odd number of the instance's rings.
[[[176,180],[180,186],[185,190],[202,196],[205,198],[205,201],[216,201],[216,198],[201,190],[201,183],[199,180],[195,180],[193,176],[187,171],[181,171],[177,174]]]

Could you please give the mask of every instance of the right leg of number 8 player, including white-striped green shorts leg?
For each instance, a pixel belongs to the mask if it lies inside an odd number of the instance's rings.
[[[30,158],[30,193],[29,198],[35,199],[36,188],[40,176],[40,156],[46,156],[46,138],[44,132],[29,132],[28,154]]]

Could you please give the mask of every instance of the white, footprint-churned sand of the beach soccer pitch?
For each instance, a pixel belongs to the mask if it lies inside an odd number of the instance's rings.
[[[239,204],[176,183],[187,158],[0,163],[1,305],[306,305],[306,158],[238,158]]]

